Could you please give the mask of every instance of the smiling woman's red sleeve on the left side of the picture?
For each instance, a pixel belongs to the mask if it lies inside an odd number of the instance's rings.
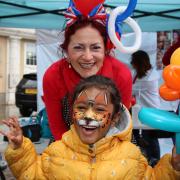
[[[46,71],[43,77],[43,98],[50,129],[55,140],[61,139],[63,133],[67,131],[67,126],[61,112],[61,99],[63,95],[58,72],[58,68],[53,65]]]

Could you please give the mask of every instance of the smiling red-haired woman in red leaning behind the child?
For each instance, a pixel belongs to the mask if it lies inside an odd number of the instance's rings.
[[[96,19],[79,18],[66,27],[61,45],[66,58],[52,64],[43,78],[44,102],[55,140],[61,139],[71,124],[71,93],[82,78],[95,74],[111,78],[122,95],[122,102],[130,107],[131,72],[110,56],[107,39],[106,27]]]

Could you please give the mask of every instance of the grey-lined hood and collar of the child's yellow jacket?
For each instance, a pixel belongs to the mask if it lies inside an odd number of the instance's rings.
[[[111,127],[106,136],[95,144],[88,145],[81,142],[74,125],[72,125],[71,129],[63,135],[62,142],[75,152],[93,156],[111,148],[114,143],[130,141],[132,134],[132,119],[127,108],[123,106],[123,109],[124,110],[121,112],[120,119],[115,127]]]

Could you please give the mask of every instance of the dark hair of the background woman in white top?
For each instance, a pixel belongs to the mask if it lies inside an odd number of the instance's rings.
[[[149,55],[142,50],[136,51],[132,54],[131,64],[136,67],[138,78],[146,76],[147,71],[152,68]]]

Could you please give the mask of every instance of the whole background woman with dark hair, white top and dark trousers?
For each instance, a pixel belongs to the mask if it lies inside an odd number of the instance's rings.
[[[140,107],[160,108],[159,86],[160,76],[152,68],[149,55],[142,50],[132,54],[131,65],[135,69],[133,79],[133,95]],[[139,134],[140,133],[140,134]],[[160,158],[160,147],[154,130],[134,130],[138,145],[143,149],[151,165]],[[153,146],[153,149],[151,148]]]

